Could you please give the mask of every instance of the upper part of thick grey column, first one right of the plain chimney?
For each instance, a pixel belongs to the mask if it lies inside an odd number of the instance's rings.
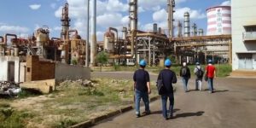
[[[137,30],[137,0],[130,0],[130,31]]]

